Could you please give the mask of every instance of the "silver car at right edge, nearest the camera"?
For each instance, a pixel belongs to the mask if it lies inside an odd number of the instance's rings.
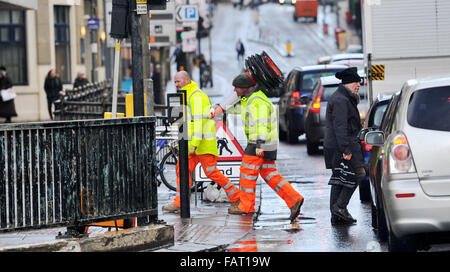
[[[370,162],[377,160],[373,200],[390,251],[448,242],[449,139],[450,77],[407,81],[392,97],[381,131],[365,133],[366,144],[380,150]]]

